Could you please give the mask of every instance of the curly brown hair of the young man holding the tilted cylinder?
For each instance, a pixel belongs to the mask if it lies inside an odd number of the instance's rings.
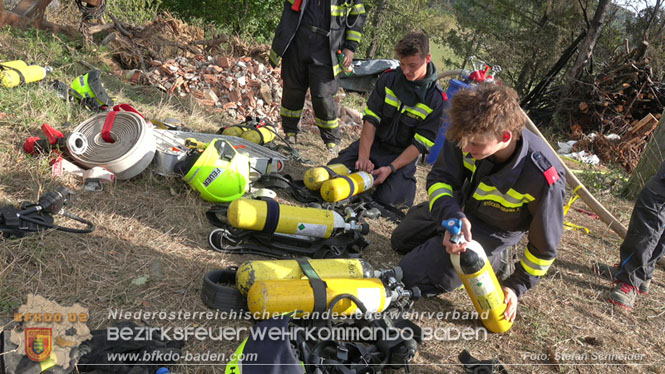
[[[501,138],[504,131],[519,139],[525,124],[517,92],[496,84],[457,92],[449,114],[446,138],[460,147],[474,136],[494,134]]]

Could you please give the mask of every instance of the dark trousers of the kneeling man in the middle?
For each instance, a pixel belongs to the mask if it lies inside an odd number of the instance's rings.
[[[328,161],[328,165],[344,164],[349,170],[355,170],[359,149],[360,143],[356,140],[348,148],[341,151],[337,157]],[[400,153],[383,149],[378,142],[375,142],[369,152],[369,159],[374,164],[374,168],[378,169],[382,166],[388,166],[399,155]],[[383,183],[376,186],[372,197],[374,200],[392,206],[411,206],[416,196],[415,174],[416,161],[414,160],[403,168],[395,170],[395,173],[390,174]]]

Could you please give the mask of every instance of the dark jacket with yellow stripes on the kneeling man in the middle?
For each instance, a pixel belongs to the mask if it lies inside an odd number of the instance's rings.
[[[436,76],[434,65],[430,65],[429,75]],[[389,152],[400,154],[413,144],[421,153],[427,153],[443,123],[443,89],[434,79],[423,96],[424,100],[406,105],[395,93],[399,91],[396,82],[401,74],[400,69],[388,70],[379,77],[367,100],[363,121],[376,127],[374,141]]]

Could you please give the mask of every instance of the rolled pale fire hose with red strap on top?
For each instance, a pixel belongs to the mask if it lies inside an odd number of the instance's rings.
[[[88,143],[85,151],[72,153],[74,161],[87,168],[106,168],[119,180],[141,173],[155,155],[152,127],[136,113],[100,113],[78,125],[74,133]]]

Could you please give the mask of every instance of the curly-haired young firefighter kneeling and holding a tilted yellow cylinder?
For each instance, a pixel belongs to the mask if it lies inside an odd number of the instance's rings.
[[[465,239],[480,243],[495,268],[528,231],[524,256],[503,282],[505,317],[514,320],[517,299],[557,255],[566,185],[559,159],[524,121],[511,88],[482,85],[452,99],[447,139],[427,176],[429,201],[412,208],[392,237],[395,249],[408,252],[400,263],[407,287],[431,295],[462,284],[448,254],[466,243],[451,243],[442,220],[460,219]]]

